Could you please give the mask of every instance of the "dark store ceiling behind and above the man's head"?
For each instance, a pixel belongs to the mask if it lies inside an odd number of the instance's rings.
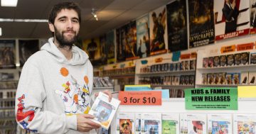
[[[0,6],[0,18],[48,19],[51,7],[63,0],[18,0],[17,7]],[[171,0],[70,0],[82,9],[80,37],[94,38],[134,21]],[[99,21],[91,11],[97,9]],[[1,38],[49,38],[48,23],[0,22]]]

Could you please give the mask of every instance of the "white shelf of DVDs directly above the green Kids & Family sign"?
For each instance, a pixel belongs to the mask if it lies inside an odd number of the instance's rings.
[[[210,55],[210,50],[198,50],[196,87],[239,86],[256,84],[256,50]]]

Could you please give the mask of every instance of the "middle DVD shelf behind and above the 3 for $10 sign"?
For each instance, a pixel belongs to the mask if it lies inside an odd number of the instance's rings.
[[[188,57],[172,62],[171,56],[172,54],[166,54],[160,57],[137,60],[135,84],[150,84],[152,88],[170,89],[170,94],[173,94],[175,90],[193,88],[196,58]],[[179,98],[183,96],[171,95],[170,97]]]

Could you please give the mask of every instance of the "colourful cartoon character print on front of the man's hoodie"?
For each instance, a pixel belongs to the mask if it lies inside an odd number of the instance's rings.
[[[77,113],[88,113],[90,111],[90,91],[87,86],[87,76],[84,77],[85,84],[80,86],[65,67],[60,69],[60,74],[63,77],[68,77],[68,82],[62,84],[63,90],[56,89],[55,93],[59,94],[63,99],[66,115],[72,116]]]

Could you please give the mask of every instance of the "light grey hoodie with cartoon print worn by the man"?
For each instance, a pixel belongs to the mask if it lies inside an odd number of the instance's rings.
[[[53,43],[28,58],[16,92],[16,121],[36,133],[79,133],[78,113],[90,110],[93,70],[87,54],[73,46],[67,60]]]

